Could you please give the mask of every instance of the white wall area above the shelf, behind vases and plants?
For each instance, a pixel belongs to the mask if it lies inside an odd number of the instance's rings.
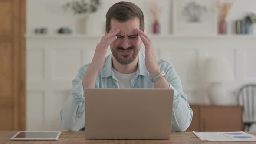
[[[36,27],[47,27],[49,33],[56,33],[61,26],[70,27],[74,33],[81,33],[82,16],[74,16],[72,12],[64,12],[62,5],[72,0],[27,0],[27,33],[33,33]],[[120,0],[102,0],[101,8],[91,16],[94,34],[103,34],[105,14],[112,4]],[[137,4],[144,12],[145,31],[151,33],[152,16],[148,8],[150,0],[125,0]],[[163,7],[161,13],[161,32],[171,32],[171,0],[158,0]],[[234,21],[243,18],[246,13],[256,13],[256,0],[236,0],[227,18],[228,33],[234,33]]]

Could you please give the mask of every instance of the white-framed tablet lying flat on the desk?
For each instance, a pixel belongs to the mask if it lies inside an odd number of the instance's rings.
[[[11,140],[58,140],[60,131],[19,131]]]

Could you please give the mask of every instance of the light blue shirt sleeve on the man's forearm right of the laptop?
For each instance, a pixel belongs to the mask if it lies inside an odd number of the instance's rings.
[[[172,131],[186,131],[189,127],[193,111],[187,101],[187,95],[182,90],[181,80],[173,66],[166,70],[169,89],[174,90]]]

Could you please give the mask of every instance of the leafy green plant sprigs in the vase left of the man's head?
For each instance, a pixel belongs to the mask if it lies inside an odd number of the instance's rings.
[[[89,0],[89,2],[85,2],[85,0],[75,0],[66,3],[62,8],[65,11],[69,9],[72,10],[73,14],[85,14],[96,12],[100,4],[100,0]]]

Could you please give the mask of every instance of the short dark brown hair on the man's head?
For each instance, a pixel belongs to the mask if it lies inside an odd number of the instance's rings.
[[[135,17],[140,19],[140,29],[144,31],[144,15],[142,10],[131,2],[118,2],[112,5],[106,14],[106,31],[109,33],[111,29],[111,19],[125,22]]]

